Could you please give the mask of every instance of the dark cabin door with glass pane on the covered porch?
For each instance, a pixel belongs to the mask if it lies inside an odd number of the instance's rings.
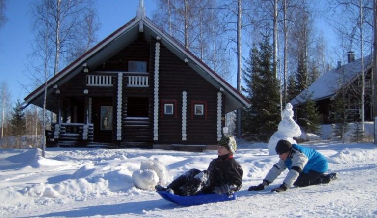
[[[93,98],[92,110],[94,142],[111,143],[115,127],[112,98]]]

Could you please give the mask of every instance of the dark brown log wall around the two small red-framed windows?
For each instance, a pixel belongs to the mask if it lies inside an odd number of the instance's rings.
[[[154,47],[153,47],[154,50]],[[154,56],[154,51],[151,52]],[[154,57],[153,57],[154,58]],[[187,92],[187,141],[182,141],[182,92]],[[159,109],[162,100],[177,100],[177,118],[161,116],[159,111],[160,144],[216,144],[217,143],[217,92],[184,61],[160,46]],[[207,102],[207,119],[191,119],[191,101]],[[222,111],[224,111],[223,99]],[[224,115],[223,115],[224,116]]]

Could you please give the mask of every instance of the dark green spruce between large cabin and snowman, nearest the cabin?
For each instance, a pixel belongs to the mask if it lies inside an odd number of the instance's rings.
[[[249,59],[246,60],[243,79],[246,87],[243,89],[251,101],[251,107],[245,109],[244,125],[248,125],[245,138],[268,141],[276,132],[280,121],[279,85],[273,73],[272,46],[269,35],[264,35],[259,48],[253,45]],[[247,111],[246,111],[247,110]]]

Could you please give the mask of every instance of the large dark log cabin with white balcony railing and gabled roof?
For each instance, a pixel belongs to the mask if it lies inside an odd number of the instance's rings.
[[[43,106],[44,86],[25,98]],[[137,16],[48,81],[60,146],[216,145],[225,114],[250,102],[184,49],[139,6]]]

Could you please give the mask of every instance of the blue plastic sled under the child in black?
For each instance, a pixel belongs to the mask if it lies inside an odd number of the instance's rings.
[[[237,195],[236,193],[228,195],[218,195],[218,194],[199,194],[195,196],[179,196],[175,194],[171,194],[168,191],[156,191],[163,199],[176,203],[181,206],[192,206],[192,205],[200,205],[200,204],[208,204],[208,203],[215,203],[220,201],[230,201],[236,200]]]

